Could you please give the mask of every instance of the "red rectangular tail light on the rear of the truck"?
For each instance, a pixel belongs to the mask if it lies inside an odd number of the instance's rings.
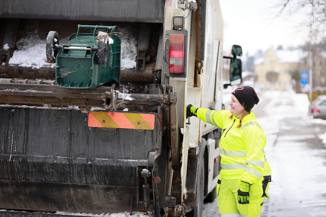
[[[170,35],[169,72],[183,73],[185,36],[182,34]]]

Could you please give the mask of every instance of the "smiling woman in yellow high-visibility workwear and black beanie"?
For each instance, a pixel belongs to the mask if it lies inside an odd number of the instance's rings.
[[[222,170],[216,186],[219,216],[259,216],[265,197],[269,198],[271,168],[263,149],[266,136],[251,111],[258,102],[255,90],[243,86],[232,92],[230,111],[187,105],[187,118],[196,116],[222,128]]]

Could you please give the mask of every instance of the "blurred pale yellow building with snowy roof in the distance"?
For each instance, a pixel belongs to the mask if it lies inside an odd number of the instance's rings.
[[[307,53],[299,49],[277,50],[269,49],[265,57],[255,61],[257,83],[265,90],[288,90],[292,88],[292,73],[301,70],[301,59]]]

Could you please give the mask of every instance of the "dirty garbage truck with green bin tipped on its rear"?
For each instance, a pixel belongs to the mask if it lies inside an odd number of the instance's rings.
[[[219,1],[0,4],[1,216],[201,216],[221,129],[185,106],[223,108]]]

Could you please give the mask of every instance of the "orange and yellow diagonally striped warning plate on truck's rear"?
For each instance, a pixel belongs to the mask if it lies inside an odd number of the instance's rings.
[[[89,127],[153,130],[155,114],[90,111]]]

